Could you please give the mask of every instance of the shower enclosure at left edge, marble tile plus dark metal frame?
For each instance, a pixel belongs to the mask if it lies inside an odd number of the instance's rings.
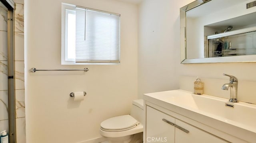
[[[9,133],[9,143],[16,143],[14,9],[12,0],[0,0],[0,131]]]

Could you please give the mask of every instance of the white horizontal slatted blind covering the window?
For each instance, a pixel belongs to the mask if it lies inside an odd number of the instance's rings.
[[[75,61],[120,62],[120,15],[76,8]]]

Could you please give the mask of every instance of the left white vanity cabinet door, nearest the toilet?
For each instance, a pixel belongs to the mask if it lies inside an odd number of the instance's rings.
[[[146,107],[146,143],[174,143],[175,119]]]

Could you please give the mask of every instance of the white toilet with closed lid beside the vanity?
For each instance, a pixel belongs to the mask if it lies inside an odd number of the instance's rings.
[[[100,124],[100,134],[109,143],[129,143],[136,133],[143,132],[143,99],[133,100],[130,115],[106,119]]]

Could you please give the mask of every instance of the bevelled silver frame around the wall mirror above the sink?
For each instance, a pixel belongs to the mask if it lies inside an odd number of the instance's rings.
[[[231,63],[231,62],[256,62],[256,55],[241,55],[228,57],[210,57],[187,59],[186,46],[186,12],[211,0],[196,0],[180,8],[180,63]]]

